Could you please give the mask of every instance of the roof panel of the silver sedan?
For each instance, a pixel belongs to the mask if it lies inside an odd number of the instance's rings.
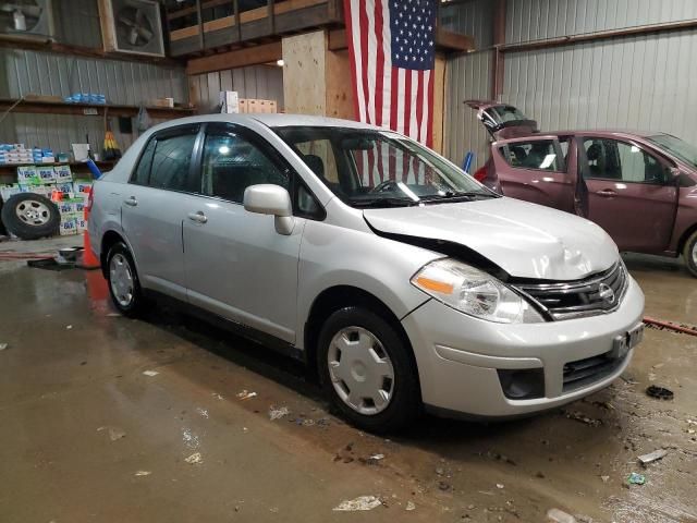
[[[292,127],[292,126],[316,126],[316,127],[350,127],[365,130],[380,130],[375,125],[355,122],[353,120],[341,120],[338,118],[314,117],[307,114],[284,114],[284,113],[258,113],[258,114],[200,114],[197,117],[179,118],[157,125],[157,130],[163,130],[174,125],[201,122],[230,122],[248,125],[259,122],[269,127]]]

